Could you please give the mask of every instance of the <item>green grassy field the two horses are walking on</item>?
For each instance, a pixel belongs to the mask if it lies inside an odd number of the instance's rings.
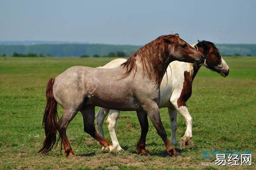
[[[234,169],[234,166],[205,166],[202,150],[251,150],[256,169],[256,57],[225,57],[230,66],[226,78],[201,68],[187,102],[192,114],[192,147],[180,150],[184,158],[167,156],[163,141],[150,123],[147,149],[150,156],[140,157],[135,145],[140,126],[135,112],[122,112],[116,133],[122,153],[104,153],[83,131],[81,114],[67,129],[76,157],[65,158],[60,146],[47,154],[37,154],[42,146],[41,126],[45,107],[45,87],[50,77],[74,65],[96,67],[113,58],[3,58],[0,57],[0,169]],[[98,109],[98,108],[97,108]],[[58,108],[61,113],[62,108]],[[170,137],[167,109],[161,119]],[[106,139],[110,140],[105,127]],[[185,121],[178,115],[177,139],[185,132]]]

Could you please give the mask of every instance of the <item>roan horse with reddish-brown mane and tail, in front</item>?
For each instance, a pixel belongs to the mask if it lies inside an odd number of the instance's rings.
[[[178,156],[179,153],[167,138],[159,115],[160,82],[170,62],[179,60],[203,63],[204,59],[200,51],[175,34],[160,36],[149,42],[116,68],[68,68],[56,78],[49,79],[47,84],[47,105],[43,118],[46,138],[38,152],[45,153],[52,149],[58,131],[64,155],[75,156],[67,139],[66,129],[78,111],[84,119],[84,131],[102,144],[105,150],[114,150],[115,147],[96,132],[95,106],[99,106],[137,111],[141,125],[137,150],[141,155],[147,155],[145,138],[148,132],[148,115],[169,155]],[[63,116],[58,122],[57,103],[64,108]]]

